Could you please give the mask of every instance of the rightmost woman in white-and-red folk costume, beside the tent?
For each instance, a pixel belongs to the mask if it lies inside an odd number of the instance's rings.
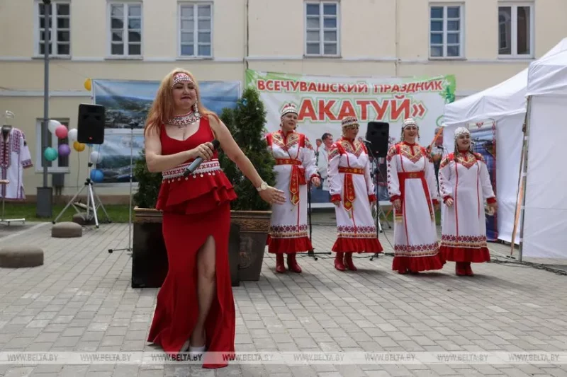
[[[471,262],[488,262],[484,199],[491,211],[496,197],[483,157],[471,151],[471,133],[455,131],[455,150],[439,166],[439,190],[443,208],[441,252],[456,262],[456,274],[472,276]]]

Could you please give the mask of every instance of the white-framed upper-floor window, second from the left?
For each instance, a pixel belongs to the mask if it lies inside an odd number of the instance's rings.
[[[113,5],[123,5],[124,6],[124,19],[123,19],[123,36],[122,43],[124,45],[124,50],[122,54],[112,53],[112,19],[111,19],[111,8]],[[130,41],[128,40],[128,8],[131,5],[140,6],[140,54],[127,54],[128,45]],[[137,43],[137,42],[132,42]],[[144,4],[142,1],[107,1],[106,4],[106,54],[109,59],[142,59],[144,57]]]

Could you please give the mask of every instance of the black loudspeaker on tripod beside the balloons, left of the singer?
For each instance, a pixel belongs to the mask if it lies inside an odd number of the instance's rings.
[[[103,105],[79,105],[77,141],[83,144],[103,144],[106,115]]]

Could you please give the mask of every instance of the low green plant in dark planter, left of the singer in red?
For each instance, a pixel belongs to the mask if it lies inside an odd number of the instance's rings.
[[[135,162],[134,176],[138,189],[133,195],[132,287],[159,288],[168,268],[162,212],[155,209],[162,174],[147,170],[145,150]]]

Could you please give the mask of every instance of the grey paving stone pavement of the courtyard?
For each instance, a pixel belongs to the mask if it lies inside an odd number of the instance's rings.
[[[45,265],[0,269],[0,352],[156,351],[147,344],[157,289],[130,287],[127,224],[86,227],[82,238],[51,238],[51,224],[0,238],[37,243]],[[392,233],[386,231],[391,240]],[[386,252],[391,246],[380,236]],[[316,251],[330,250],[333,226],[313,227]],[[507,247],[490,245],[500,253]],[[302,274],[275,274],[266,254],[259,282],[234,288],[237,351],[567,351],[567,277],[524,265],[485,263],[475,277],[399,275],[392,258],[301,257]],[[0,376],[567,376],[564,366],[311,365],[206,370],[176,365],[0,365]]]

